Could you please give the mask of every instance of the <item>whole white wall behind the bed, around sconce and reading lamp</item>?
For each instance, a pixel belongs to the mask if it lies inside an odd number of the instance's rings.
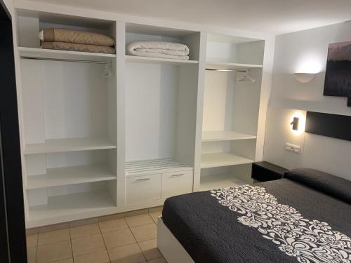
[[[351,40],[351,22],[277,36],[270,107],[267,114],[264,160],[286,168],[309,167],[351,180],[351,142],[303,133],[293,135],[289,118],[296,110],[351,116],[345,97],[323,96],[329,43]],[[317,72],[310,83],[300,83],[293,72]],[[300,154],[285,149],[286,142],[302,147]]]

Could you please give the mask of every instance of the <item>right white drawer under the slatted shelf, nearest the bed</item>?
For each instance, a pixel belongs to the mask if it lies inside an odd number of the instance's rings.
[[[162,174],[161,197],[168,198],[192,192],[192,170]]]

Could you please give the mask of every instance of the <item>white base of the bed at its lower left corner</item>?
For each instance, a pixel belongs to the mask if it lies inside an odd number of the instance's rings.
[[[166,227],[162,217],[157,219],[157,247],[168,263],[195,263],[183,245]]]

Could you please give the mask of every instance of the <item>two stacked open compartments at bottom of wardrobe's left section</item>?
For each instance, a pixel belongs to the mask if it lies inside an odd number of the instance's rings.
[[[115,158],[116,149],[27,155],[29,221],[115,208]]]

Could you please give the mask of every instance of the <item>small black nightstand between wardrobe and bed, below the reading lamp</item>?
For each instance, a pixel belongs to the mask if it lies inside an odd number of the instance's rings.
[[[273,163],[260,161],[252,164],[251,178],[256,182],[277,180],[282,178],[287,170]]]

